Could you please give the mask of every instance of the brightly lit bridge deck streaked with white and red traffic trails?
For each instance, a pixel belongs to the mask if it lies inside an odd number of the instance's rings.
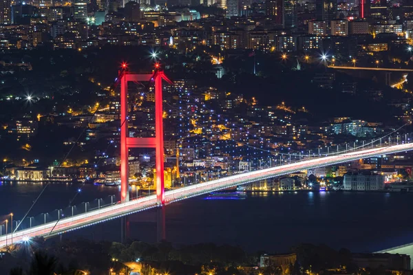
[[[178,188],[175,190],[168,190],[165,192],[166,203],[173,203],[181,199],[187,199],[189,197],[195,197],[198,195],[204,195],[216,190],[222,190],[233,186],[239,186],[242,184],[248,184],[253,181],[259,181],[262,179],[268,179],[271,177],[277,177],[280,175],[286,175],[289,173],[297,172],[299,170],[306,170],[309,168],[317,168],[322,166],[328,166],[333,164],[339,164],[343,162],[350,162],[352,160],[374,157],[379,155],[398,153],[403,151],[413,150],[413,143],[398,144],[393,146],[385,146],[378,148],[368,148],[360,151],[352,151],[348,153],[341,153],[338,155],[330,155],[326,157],[315,157],[313,159],[304,160],[301,162],[295,162],[291,164],[285,164],[282,166],[275,166],[271,168],[264,168],[261,170],[255,170],[247,173],[240,173],[229,177],[223,177],[222,179],[215,179],[207,181],[202,184],[193,184]],[[91,210],[84,214],[78,214],[74,217],[66,217],[56,221],[45,223],[44,225],[38,225],[29,229],[19,230],[13,233],[13,243],[18,243],[27,238],[37,236],[53,236],[61,234],[71,230],[86,227],[88,225],[94,225],[108,221],[110,219],[116,219],[118,217],[147,210],[149,208],[155,208],[156,195],[150,195],[147,197],[140,197],[128,201],[126,203],[118,203],[113,206],[107,206],[98,210]],[[56,225],[56,226],[55,226]],[[54,228],[52,230],[52,228]],[[52,231],[52,232],[51,232]],[[11,234],[3,235],[0,237],[0,248],[3,248],[7,243],[11,243]]]

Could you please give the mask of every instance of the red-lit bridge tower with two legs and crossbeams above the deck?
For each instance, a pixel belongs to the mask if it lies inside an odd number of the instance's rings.
[[[124,66],[123,66],[124,67]],[[129,201],[129,148],[156,149],[156,201],[165,203],[164,143],[162,124],[162,79],[172,84],[164,72],[155,74],[134,74],[124,71],[120,74],[120,201]],[[155,83],[155,135],[156,137],[129,137],[127,83]]]

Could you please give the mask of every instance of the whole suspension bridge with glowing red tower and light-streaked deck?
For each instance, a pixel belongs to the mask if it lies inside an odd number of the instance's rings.
[[[357,159],[368,157],[376,157],[413,150],[413,142],[410,134],[403,136],[396,135],[394,137],[386,135],[385,137],[372,140],[367,144],[356,146],[347,146],[342,151],[332,152],[327,148],[327,152],[318,151],[318,153],[301,155],[295,154],[294,159],[289,155],[280,154],[279,163],[268,168],[250,170],[235,175],[229,175],[220,179],[204,181],[198,184],[192,184],[176,189],[165,190],[163,173],[156,173],[156,193],[136,199],[129,199],[129,178],[128,178],[128,151],[129,148],[144,147],[156,149],[156,170],[163,170],[164,153],[163,153],[163,129],[162,129],[162,80],[170,83],[170,80],[158,71],[155,74],[131,74],[124,72],[120,75],[120,151],[121,151],[121,190],[120,201],[112,201],[109,205],[98,206],[96,209],[85,207],[85,212],[74,214],[72,206],[72,214],[59,212],[59,215],[54,221],[44,220],[43,224],[34,225],[30,228],[23,228],[19,225],[27,216],[27,213],[17,227],[6,234],[0,236],[0,248],[3,248],[12,243],[28,241],[34,237],[50,237],[56,234],[63,234],[79,228],[84,228],[96,223],[103,223],[111,219],[127,216],[135,212],[148,210],[151,208],[159,208],[169,203],[189,199],[191,197],[200,196],[209,192],[223,190],[234,186],[242,186],[255,181],[271,179],[282,175],[288,175],[301,170],[318,168],[322,166],[331,166],[345,162],[351,162]],[[156,137],[129,137],[127,126],[127,83],[128,81],[150,81],[155,83],[155,98],[156,98]],[[342,147],[343,148],[343,147]],[[284,159],[283,159],[284,157]]]

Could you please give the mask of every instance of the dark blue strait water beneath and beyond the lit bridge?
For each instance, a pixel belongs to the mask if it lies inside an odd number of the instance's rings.
[[[29,216],[65,208],[79,186],[50,184]],[[10,212],[14,212],[14,219],[21,219],[43,187],[44,184],[1,184],[0,220]],[[117,187],[84,186],[74,204],[95,198],[107,201],[113,194],[118,194]],[[176,245],[229,243],[251,252],[286,252],[298,243],[325,243],[337,249],[374,252],[413,243],[412,206],[413,193],[284,192],[252,193],[246,199],[198,197],[166,206],[167,240]],[[131,238],[156,241],[156,210],[129,218]],[[75,236],[119,241],[120,220],[63,237]]]

